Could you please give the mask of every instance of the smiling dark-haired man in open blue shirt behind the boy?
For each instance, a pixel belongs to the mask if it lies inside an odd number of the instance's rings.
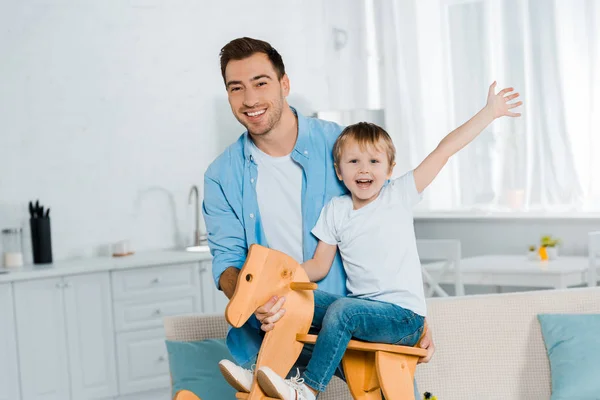
[[[346,189],[335,175],[332,155],[343,128],[305,118],[287,104],[290,81],[279,53],[269,43],[240,38],[223,47],[220,57],[231,110],[247,132],[206,171],[203,213],[215,284],[231,298],[253,243],[300,263],[312,258],[317,239],[311,229],[323,206]],[[339,254],[318,284],[320,290],[347,294]],[[239,365],[248,368],[256,362],[261,330],[273,329],[283,317],[284,302],[271,299],[246,325],[229,331],[227,345]],[[421,346],[428,350],[421,361],[428,362],[434,352],[430,333]],[[311,350],[305,346],[298,368],[306,366]],[[228,373],[235,375],[238,390],[248,390],[250,371],[232,367]]]

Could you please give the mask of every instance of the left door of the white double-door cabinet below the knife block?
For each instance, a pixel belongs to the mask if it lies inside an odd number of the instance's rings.
[[[14,283],[23,400],[70,398],[62,282]]]

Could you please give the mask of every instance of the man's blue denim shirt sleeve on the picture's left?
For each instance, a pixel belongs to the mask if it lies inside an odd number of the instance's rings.
[[[202,213],[208,233],[215,285],[229,267],[241,269],[246,260],[248,245],[242,222],[227,201],[221,184],[208,174],[204,176]]]

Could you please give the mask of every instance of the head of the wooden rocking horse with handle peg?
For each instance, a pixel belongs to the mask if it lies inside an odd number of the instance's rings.
[[[273,296],[315,288],[316,284],[309,283],[306,272],[292,257],[253,244],[238,276],[235,293],[225,309],[225,318],[231,326],[239,328]]]

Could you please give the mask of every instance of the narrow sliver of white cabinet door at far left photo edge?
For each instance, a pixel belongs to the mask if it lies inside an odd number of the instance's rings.
[[[19,399],[19,362],[12,286],[0,284],[0,400]]]

